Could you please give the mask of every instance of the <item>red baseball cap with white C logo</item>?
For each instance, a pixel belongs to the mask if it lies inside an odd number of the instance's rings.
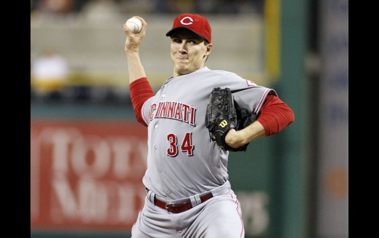
[[[196,33],[208,43],[211,43],[211,26],[208,20],[197,14],[185,13],[174,20],[172,29],[166,33],[166,36],[171,36],[178,29],[189,29],[190,31]]]

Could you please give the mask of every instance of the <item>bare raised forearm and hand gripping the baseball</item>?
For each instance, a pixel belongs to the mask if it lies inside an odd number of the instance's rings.
[[[125,41],[125,53],[127,57],[127,67],[129,74],[129,83],[141,78],[146,78],[145,69],[142,66],[141,59],[139,57],[139,47],[146,34],[147,23],[141,17],[137,17],[142,22],[142,30],[140,33],[135,34],[123,24],[123,29],[126,34]]]

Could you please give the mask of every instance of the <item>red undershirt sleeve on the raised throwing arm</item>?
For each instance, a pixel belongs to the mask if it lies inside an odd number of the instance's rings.
[[[147,78],[140,78],[129,85],[130,87],[130,99],[134,109],[135,117],[137,121],[144,126],[148,126],[142,116],[142,106],[151,97],[153,97],[154,91],[150,86]]]

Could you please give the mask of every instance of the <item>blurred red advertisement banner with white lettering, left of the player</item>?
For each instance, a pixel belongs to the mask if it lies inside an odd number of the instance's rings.
[[[146,191],[137,122],[31,121],[31,229],[130,230]]]

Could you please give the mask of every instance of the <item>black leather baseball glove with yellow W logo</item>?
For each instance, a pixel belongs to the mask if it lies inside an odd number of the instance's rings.
[[[226,133],[235,129],[241,130],[253,123],[252,113],[246,109],[234,107],[232,93],[229,88],[214,88],[207,105],[205,126],[210,132],[211,139],[224,150],[246,151],[248,144],[238,148],[232,148],[225,142]],[[213,138],[215,137],[215,138]]]

